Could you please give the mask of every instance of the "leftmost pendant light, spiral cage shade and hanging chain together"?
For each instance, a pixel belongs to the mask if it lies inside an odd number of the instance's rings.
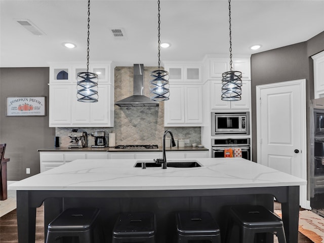
[[[89,72],[90,0],[88,0],[87,72],[79,72],[77,78],[77,101],[98,102],[98,75]]]

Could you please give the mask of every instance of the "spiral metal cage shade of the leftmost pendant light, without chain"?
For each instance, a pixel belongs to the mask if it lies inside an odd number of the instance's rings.
[[[98,102],[98,75],[93,72],[77,73],[77,101]]]

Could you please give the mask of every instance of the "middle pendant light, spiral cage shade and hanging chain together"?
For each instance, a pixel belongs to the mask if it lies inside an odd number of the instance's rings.
[[[158,70],[151,72],[151,77],[153,79],[150,81],[150,98],[155,101],[165,101],[169,100],[170,91],[169,91],[169,72],[165,70],[160,70],[160,1],[157,1],[158,6]]]

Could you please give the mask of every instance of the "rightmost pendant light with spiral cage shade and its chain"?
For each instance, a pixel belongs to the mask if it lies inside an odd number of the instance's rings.
[[[231,31],[231,1],[228,0],[229,10],[229,58],[231,70],[222,74],[222,100],[236,101],[241,100],[242,73],[233,70],[232,62],[232,31]]]

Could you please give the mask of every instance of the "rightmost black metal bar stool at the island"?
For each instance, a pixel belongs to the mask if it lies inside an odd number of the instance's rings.
[[[239,226],[241,243],[254,242],[256,233],[272,233],[278,237],[279,243],[286,243],[282,220],[263,206],[232,206],[226,242],[230,242],[230,234],[235,223]]]

